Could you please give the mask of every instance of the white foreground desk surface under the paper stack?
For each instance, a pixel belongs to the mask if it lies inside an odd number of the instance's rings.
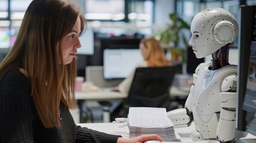
[[[109,134],[112,134],[112,135],[121,135],[123,138],[129,138],[128,126],[124,126],[123,128],[119,128],[119,126],[121,126],[123,124],[124,123],[81,123],[81,124],[78,124],[78,125],[82,126],[82,127],[87,127],[87,128],[90,128],[90,129],[98,130],[100,132],[109,133]],[[189,143],[189,142],[193,142],[192,139],[190,138],[190,132],[193,129],[195,129],[195,124],[194,123],[192,123],[192,125],[190,125],[187,128],[177,128],[177,129],[175,129],[175,132],[177,132],[178,135],[181,136],[181,142],[182,143],[184,143],[184,142]],[[248,133],[248,135],[243,139],[256,139],[256,136],[251,135],[251,134]],[[208,143],[209,142],[214,142],[214,141],[208,141]],[[202,143],[202,142],[200,142],[200,143]]]

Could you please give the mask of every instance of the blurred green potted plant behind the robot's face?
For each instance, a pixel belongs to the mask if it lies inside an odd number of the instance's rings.
[[[167,29],[156,32],[153,36],[158,37],[161,43],[165,47],[167,46],[166,48],[171,54],[172,61],[181,61],[181,63],[185,63],[185,49],[178,45],[180,41],[183,42],[185,46],[188,45],[183,29],[189,30],[190,26],[175,13],[169,14],[169,18],[172,21],[172,24],[169,25]],[[179,59],[179,57],[182,59]]]

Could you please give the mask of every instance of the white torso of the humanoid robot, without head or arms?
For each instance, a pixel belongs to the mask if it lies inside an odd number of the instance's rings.
[[[198,130],[204,139],[216,138],[218,114],[221,111],[220,93],[223,80],[237,74],[237,66],[230,65],[218,70],[209,70],[211,62],[204,63],[199,69],[192,113]],[[230,86],[230,85],[226,85]],[[185,105],[186,106],[186,105]]]

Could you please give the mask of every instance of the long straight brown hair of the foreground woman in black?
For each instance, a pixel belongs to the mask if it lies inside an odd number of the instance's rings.
[[[76,60],[59,64],[56,51],[61,55],[61,47],[56,45],[70,32],[77,17],[81,19],[82,31],[85,18],[72,1],[33,0],[13,48],[0,64],[0,77],[16,68],[27,72],[31,96],[45,128],[60,126],[60,102],[67,108],[75,107]]]

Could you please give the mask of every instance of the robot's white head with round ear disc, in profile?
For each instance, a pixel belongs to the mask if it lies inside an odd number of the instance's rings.
[[[223,8],[211,8],[196,14],[190,26],[193,46],[197,58],[203,58],[232,43],[238,35],[235,17]]]

